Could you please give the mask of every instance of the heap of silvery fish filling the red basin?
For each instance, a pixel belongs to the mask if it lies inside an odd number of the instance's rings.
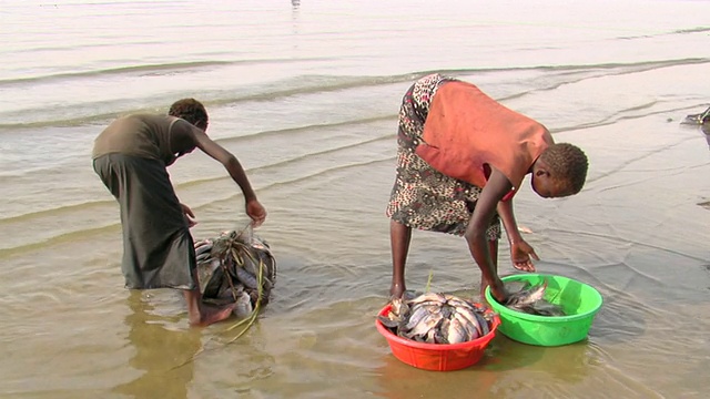
[[[427,344],[460,344],[491,329],[493,313],[448,294],[426,293],[413,299],[393,299],[379,321],[392,334]]]

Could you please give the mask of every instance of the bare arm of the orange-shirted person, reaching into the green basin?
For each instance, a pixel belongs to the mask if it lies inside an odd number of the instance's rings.
[[[508,178],[498,170],[493,168],[488,182],[476,202],[465,235],[470,254],[478,264],[484,278],[490,285],[491,293],[496,299],[505,298],[505,289],[490,257],[486,231],[496,214],[498,203],[510,188],[511,185]]]

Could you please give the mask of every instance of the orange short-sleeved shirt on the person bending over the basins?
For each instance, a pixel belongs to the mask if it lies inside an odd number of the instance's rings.
[[[484,187],[486,165],[500,171],[513,196],[542,151],[554,143],[540,123],[511,111],[467,82],[434,95],[416,153],[443,174]]]

